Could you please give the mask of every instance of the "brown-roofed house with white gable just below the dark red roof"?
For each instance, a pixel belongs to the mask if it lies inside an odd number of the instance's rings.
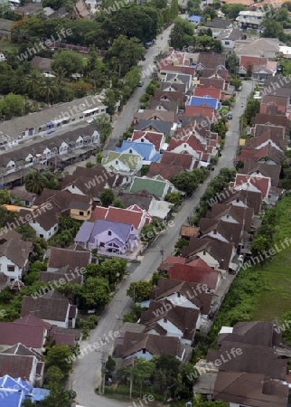
[[[211,315],[213,295],[202,289],[200,284],[179,279],[159,279],[152,289],[151,300],[170,301],[174,306],[198,309],[202,318]]]

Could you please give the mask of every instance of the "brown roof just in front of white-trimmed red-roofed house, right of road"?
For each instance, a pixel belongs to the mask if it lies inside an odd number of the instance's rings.
[[[227,188],[222,191],[220,199],[218,199],[218,202],[221,204],[235,204],[236,201],[247,204],[249,208],[254,209],[255,214],[258,214],[261,207],[262,194],[245,190],[235,191],[232,188]]]

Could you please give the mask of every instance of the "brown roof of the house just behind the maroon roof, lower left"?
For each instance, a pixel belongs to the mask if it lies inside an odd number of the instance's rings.
[[[69,308],[70,300],[52,289],[39,298],[24,296],[20,315],[25,317],[27,314],[33,313],[35,317],[41,319],[65,321]]]

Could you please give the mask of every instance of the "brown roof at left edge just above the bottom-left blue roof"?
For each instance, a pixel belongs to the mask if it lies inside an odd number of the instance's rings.
[[[0,377],[8,374],[30,382],[33,374],[33,356],[0,354]]]

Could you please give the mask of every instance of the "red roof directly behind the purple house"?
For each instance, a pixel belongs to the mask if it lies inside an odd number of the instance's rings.
[[[121,209],[109,206],[108,208],[102,208],[102,206],[96,206],[92,215],[92,221],[95,222],[98,219],[107,220],[111,222],[128,223],[133,224],[136,229],[140,227],[143,220],[145,211],[139,208],[139,211],[132,209]]]

